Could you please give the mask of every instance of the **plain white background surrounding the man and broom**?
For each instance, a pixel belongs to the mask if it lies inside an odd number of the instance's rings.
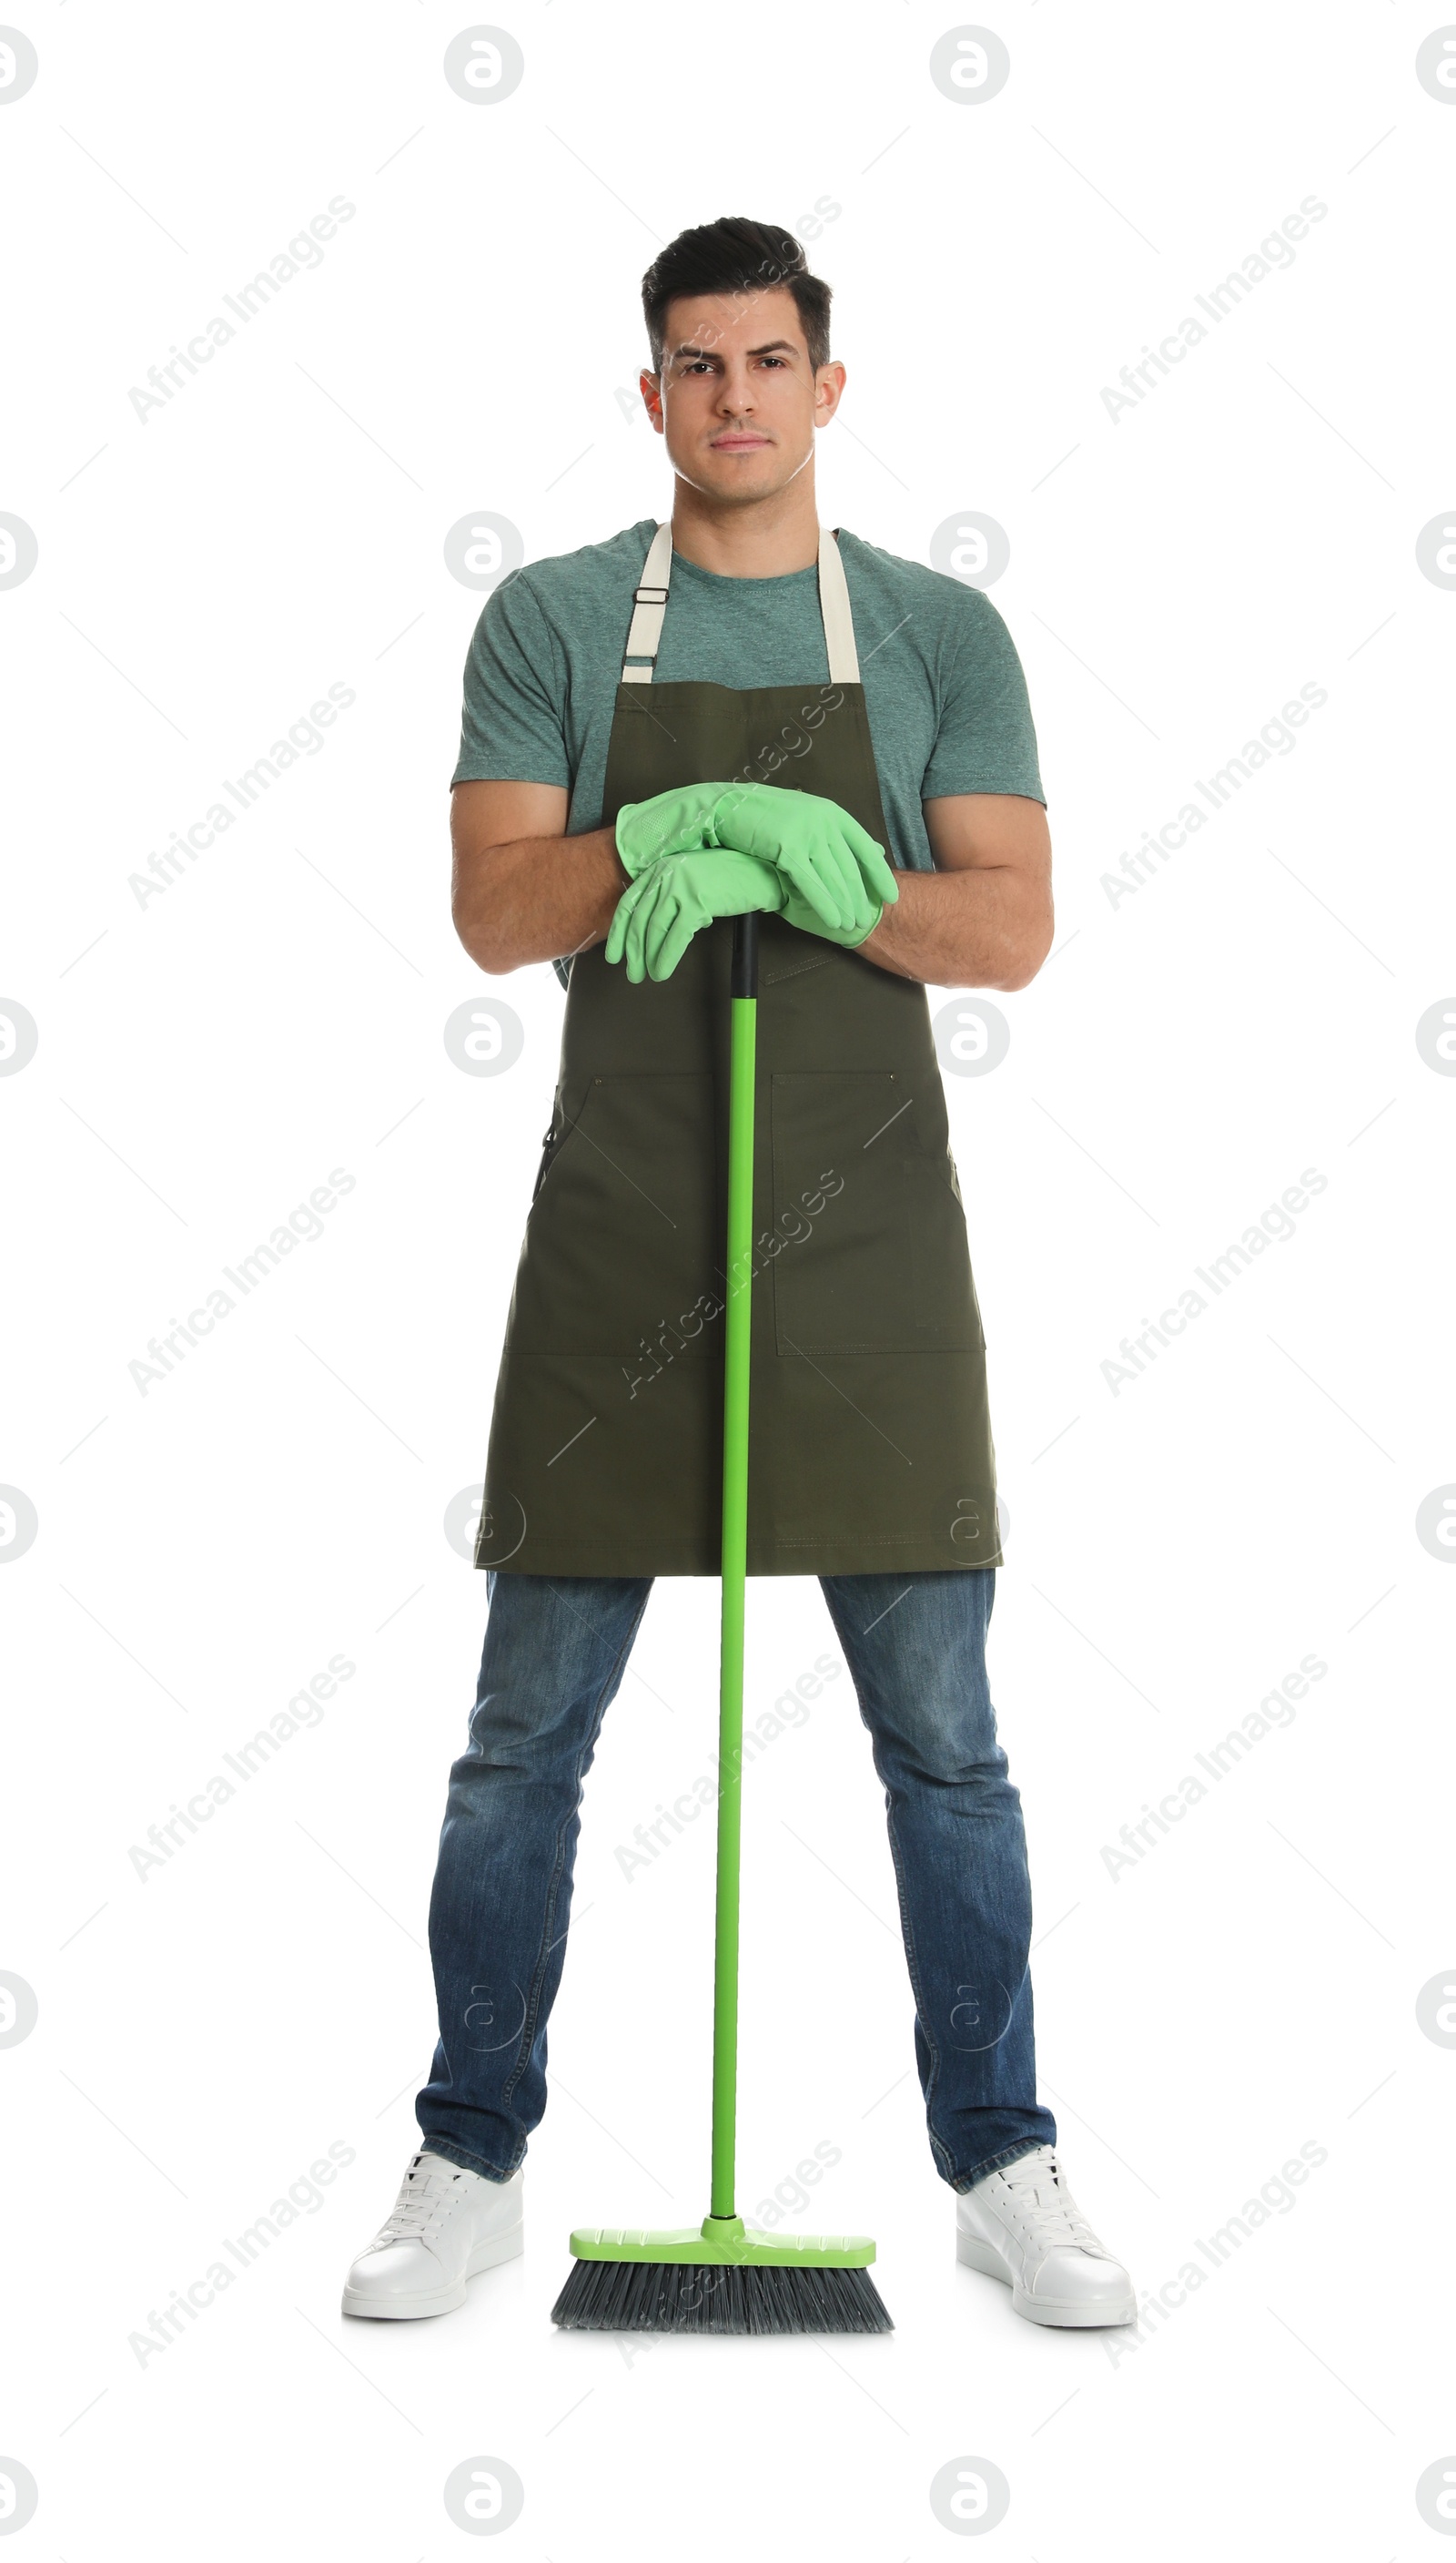
[[[523,5],[513,97],[441,72],[472,21],[95,0],[23,21],[0,115],[15,361],[0,507],[10,894],[0,1087],[13,1727],[0,2455],[23,2530],[118,2553],[443,2558],[500,2458],[531,2558],[954,2550],[931,2478],[1010,2484],[1015,2563],[1230,2542],[1415,2558],[1451,2453],[1443,1561],[1456,1479],[1456,1084],[1441,723],[1456,597],[1443,377],[1456,110],[1394,5],[1010,0],[1010,79],[928,77],[920,0]],[[333,195],[356,210],[164,410],[128,390]],[[1100,397],[1302,197],[1328,213],[1136,410]],[[615,1845],[707,1768],[715,1584],[664,1581],[587,1789],[531,2148],[528,2253],[443,2322],[338,2314],[413,2148],[426,1904],[484,1576],[479,1487],[561,992],[484,982],[449,918],[446,787],[482,597],[469,510],[525,556],[666,513],[618,390],[638,277],[720,213],[823,220],[848,367],[820,518],[907,559],[1005,525],[1059,946],[948,1076],[1010,1507],[992,1686],[1020,1781],[1043,2097],[1138,2291],[1300,2145],[1325,2161],[1128,2335],[1015,2320],[959,2271],[910,2071],[882,1797],[848,1679],[751,1774],[743,2204],[828,2140],[797,2225],[879,2237],[889,2340],[556,2335],[574,2222],[705,2204],[710,1840]],[[131,874],[328,684],[356,702],[164,894]],[[1328,702],[1118,905],[1102,887],[1246,738]],[[469,997],[525,1025],[467,1076]],[[936,997],[933,1002],[946,1002]],[[331,1169],[354,1192],[169,1376],[151,1335]],[[1102,1364],[1305,1169],[1325,1189],[1118,1394]],[[813,1581],[751,1586],[751,1712],[833,1651]],[[341,1653],[320,1722],[136,1874],[131,1845]],[[1102,1856],[1302,1656],[1328,1674],[1115,1876]],[[146,2330],[336,2143],[349,2168],[138,2363]],[[1169,2296],[1177,2299],[1177,2284]],[[1456,2463],[1456,2458],[1453,2458]],[[0,2522],[3,2527],[3,2522]],[[1433,2548],[1435,2550],[1435,2548]]]

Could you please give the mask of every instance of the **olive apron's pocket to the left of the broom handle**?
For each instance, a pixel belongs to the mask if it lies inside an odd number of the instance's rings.
[[[713,1079],[592,1076],[541,1169],[508,1351],[631,1361],[664,1328],[674,1353],[710,1348],[723,1307],[715,1199]]]

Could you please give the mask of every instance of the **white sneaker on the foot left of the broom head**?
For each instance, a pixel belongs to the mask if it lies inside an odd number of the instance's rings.
[[[390,2322],[454,2312],[467,2279],[520,2253],[523,2186],[523,2171],[487,2181],[443,2153],[415,2153],[395,2207],[343,2281],[343,2312]]]

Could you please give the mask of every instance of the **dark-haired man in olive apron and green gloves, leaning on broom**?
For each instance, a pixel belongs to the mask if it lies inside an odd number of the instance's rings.
[[[956,2248],[1046,2325],[1136,2317],[1036,2099],[1030,1881],[984,1671],[984,1335],[925,982],[1020,989],[1051,851],[979,589],[828,533],[831,290],[774,226],[643,277],[672,523],[513,572],[454,774],[454,923],[554,961],[477,1566],[490,1617],[431,1899],[423,2148],[343,2309],[446,2312],[520,2250],[582,1776],[656,1574],[718,1574],[733,918],[759,912],[749,1571],[818,1574],[884,1781]]]

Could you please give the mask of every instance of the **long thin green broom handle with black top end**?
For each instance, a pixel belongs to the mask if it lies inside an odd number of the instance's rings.
[[[713,1940],[713,2214],[733,2217],[738,2099],[738,1838],[749,1574],[749,1317],[754,1279],[754,1035],[759,920],[733,923],[728,1056],[728,1299],[723,1338],[723,1651],[718,1681],[718,1920]]]

